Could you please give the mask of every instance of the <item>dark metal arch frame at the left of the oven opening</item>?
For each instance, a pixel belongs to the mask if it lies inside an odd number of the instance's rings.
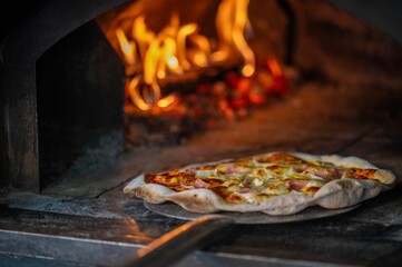
[[[56,42],[99,14],[129,0],[49,1],[4,41],[1,179],[39,191],[37,60]]]

